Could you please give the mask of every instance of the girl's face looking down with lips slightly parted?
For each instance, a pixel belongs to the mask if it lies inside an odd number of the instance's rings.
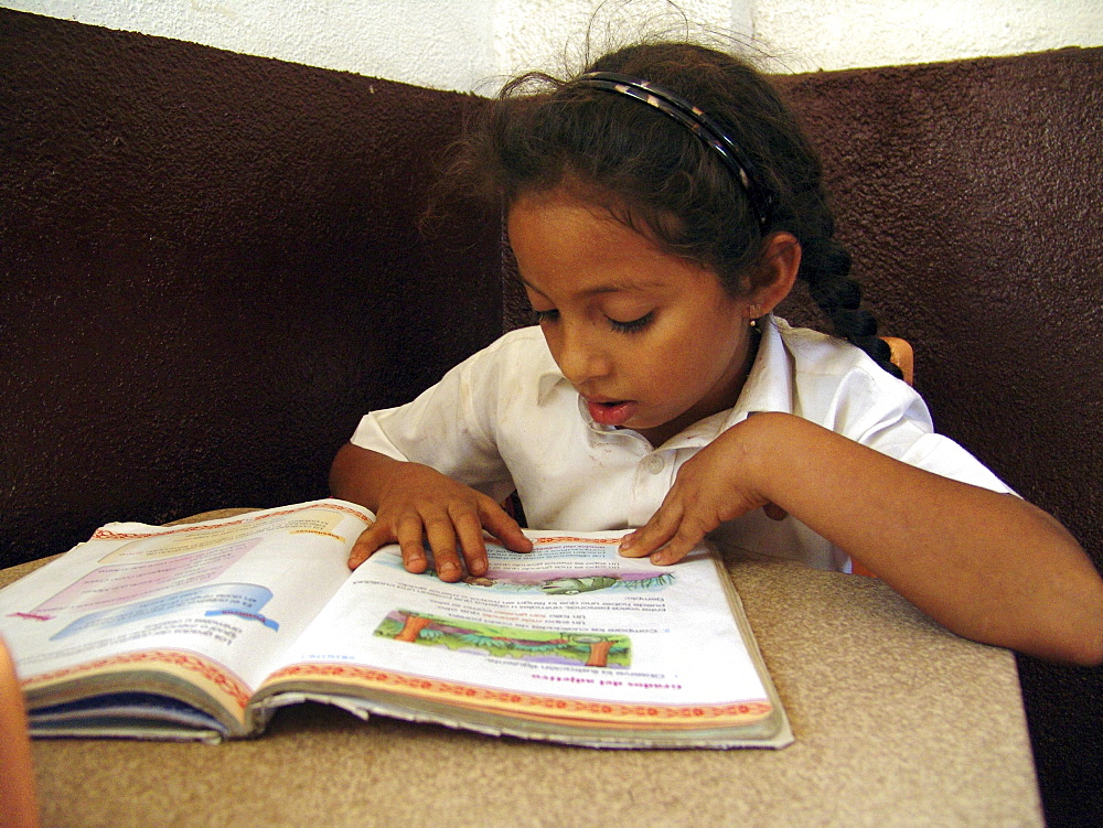
[[[507,228],[552,356],[597,422],[661,445],[735,405],[750,299],[560,191],[521,197]]]

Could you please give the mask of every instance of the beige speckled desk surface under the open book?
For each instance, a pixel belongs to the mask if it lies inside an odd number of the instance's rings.
[[[796,735],[784,750],[596,751],[304,706],[219,745],[38,741],[43,825],[1042,824],[1009,652],[871,579],[729,569]]]

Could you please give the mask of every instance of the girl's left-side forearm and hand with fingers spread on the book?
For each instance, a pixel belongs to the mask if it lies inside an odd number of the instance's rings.
[[[357,538],[349,556],[355,569],[382,546],[397,542],[410,572],[428,566],[425,541],[432,549],[437,574],[458,581],[463,574],[457,547],[471,574],[486,571],[485,527],[515,552],[532,550],[516,520],[494,501],[420,463],[393,460],[346,443],[330,469],[334,497],[375,513],[376,523]]]

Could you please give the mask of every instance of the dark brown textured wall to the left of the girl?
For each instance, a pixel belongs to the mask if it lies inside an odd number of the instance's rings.
[[[476,99],[8,10],[0,56],[0,566],[324,496],[500,332],[497,228],[414,228]]]

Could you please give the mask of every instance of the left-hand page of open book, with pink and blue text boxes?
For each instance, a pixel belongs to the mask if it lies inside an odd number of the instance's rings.
[[[0,591],[0,632],[32,698],[156,670],[244,709],[347,579],[347,550],[370,521],[321,501],[174,527],[110,524]]]

